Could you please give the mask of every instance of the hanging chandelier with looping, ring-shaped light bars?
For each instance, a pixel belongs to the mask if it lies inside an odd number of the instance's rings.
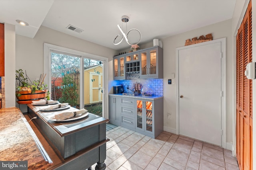
[[[129,17],[128,17],[128,16],[122,16],[121,20],[122,20],[122,22],[125,22],[125,23],[126,23],[126,29],[127,29],[127,22],[129,21]],[[119,24],[117,25],[117,27],[118,27],[118,29],[121,31],[121,33],[118,34],[118,35],[114,38],[114,41],[113,41],[114,45],[120,44],[123,39],[125,39],[126,42],[127,42],[129,45],[137,45],[138,43],[140,43],[140,40],[141,40],[141,33],[140,33],[140,31],[139,31],[138,29],[130,29],[130,30],[128,31],[127,35],[126,35],[126,34],[124,33],[124,31],[122,30],[122,28],[120,27]],[[137,43],[134,43],[134,44],[131,44],[131,43],[129,43],[129,41],[128,41],[128,34],[129,34],[130,31],[132,31],[132,30],[138,31],[138,33],[140,34],[140,40],[139,40]],[[119,36],[122,36],[122,37],[119,37]],[[116,39],[117,39],[118,37],[121,38],[121,40],[120,40],[119,42],[116,42]]]

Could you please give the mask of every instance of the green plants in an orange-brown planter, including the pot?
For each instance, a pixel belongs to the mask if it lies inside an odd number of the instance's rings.
[[[40,80],[31,81],[22,69],[16,70],[16,98],[18,104],[30,104],[33,100],[44,99],[49,96],[47,85],[44,84],[46,74],[41,74]],[[28,82],[30,81],[30,83]]]

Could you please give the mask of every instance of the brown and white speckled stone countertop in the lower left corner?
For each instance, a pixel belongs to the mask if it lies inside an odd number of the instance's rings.
[[[40,142],[20,109],[0,109],[0,136],[1,161],[27,160],[29,170],[44,170],[51,166],[50,158],[38,146]]]

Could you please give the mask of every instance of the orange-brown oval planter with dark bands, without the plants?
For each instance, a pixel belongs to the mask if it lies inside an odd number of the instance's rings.
[[[33,100],[44,99],[47,96],[48,89],[46,90],[36,90],[34,94],[29,93],[28,91],[16,92],[16,98],[18,99],[18,104],[31,104]],[[21,96],[17,96],[21,94]]]

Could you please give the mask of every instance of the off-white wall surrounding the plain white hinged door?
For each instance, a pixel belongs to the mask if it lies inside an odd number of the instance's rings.
[[[176,133],[176,84],[168,84],[171,73],[175,73],[176,48],[182,47],[186,39],[212,33],[213,39],[226,37],[226,141],[233,143],[232,104],[233,104],[233,57],[232,57],[232,20],[226,20],[206,27],[191,30],[179,35],[162,39],[164,49],[164,129]],[[176,75],[175,75],[176,76]],[[175,80],[176,77],[175,77]],[[167,112],[172,119],[167,119]]]

